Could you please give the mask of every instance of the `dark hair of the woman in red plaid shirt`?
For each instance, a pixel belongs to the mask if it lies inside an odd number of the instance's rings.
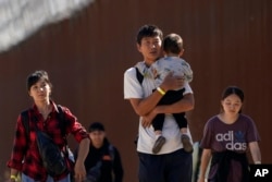
[[[44,80],[46,83],[49,84],[49,86],[52,88],[52,84],[49,80],[49,76],[48,76],[48,73],[44,70],[38,70],[38,71],[35,71],[34,73],[29,74],[27,76],[27,81],[26,81],[26,88],[27,88],[27,92],[30,90],[30,87],[33,85],[35,85],[39,80]]]

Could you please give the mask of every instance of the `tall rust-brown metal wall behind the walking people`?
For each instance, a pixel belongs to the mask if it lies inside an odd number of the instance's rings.
[[[32,105],[26,76],[44,69],[53,82],[57,102],[67,106],[85,126],[91,121],[106,124],[122,155],[125,181],[137,181],[133,141],[138,118],[123,99],[123,73],[141,60],[135,35],[147,23],[184,39],[184,58],[194,70],[196,107],[188,119],[195,141],[201,138],[205,122],[219,112],[223,88],[237,85],[246,95],[243,111],[260,132],[262,160],[271,163],[271,2],[97,0],[72,19],[0,53],[2,178],[17,114]],[[73,138],[71,145],[76,145]]]

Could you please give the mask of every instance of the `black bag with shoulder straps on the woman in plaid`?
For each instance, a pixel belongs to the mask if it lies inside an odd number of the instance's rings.
[[[59,126],[61,129],[62,136],[65,141],[65,151],[61,151],[58,145],[54,144],[53,139],[45,132],[36,129],[37,133],[37,145],[39,149],[40,157],[42,159],[44,167],[47,169],[47,172],[51,177],[55,177],[62,174],[65,170],[67,170],[67,165],[65,158],[69,156],[67,151],[67,139],[65,135],[65,120],[62,107],[58,105],[58,120]],[[29,139],[29,117],[28,110],[23,111],[22,123],[25,128],[27,138]]]

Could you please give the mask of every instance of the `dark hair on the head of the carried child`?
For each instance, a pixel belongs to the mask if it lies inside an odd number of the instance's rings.
[[[183,50],[183,39],[177,34],[169,34],[162,41],[162,49],[166,53],[178,54]]]

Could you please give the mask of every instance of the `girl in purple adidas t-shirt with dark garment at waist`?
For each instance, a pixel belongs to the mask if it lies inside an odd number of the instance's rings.
[[[205,125],[200,143],[202,150],[198,182],[205,182],[211,159],[208,181],[248,182],[249,166],[246,151],[249,148],[255,163],[261,163],[260,141],[254,120],[242,113],[244,93],[228,86],[221,98],[221,112]]]

